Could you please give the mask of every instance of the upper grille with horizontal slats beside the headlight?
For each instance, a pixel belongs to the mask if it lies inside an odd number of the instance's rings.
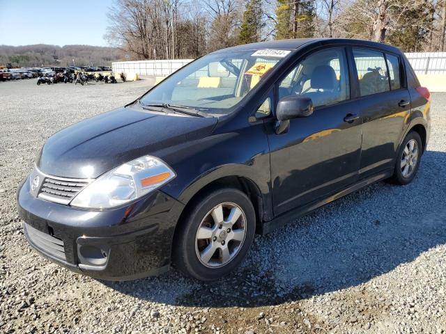
[[[82,180],[59,180],[52,177],[45,177],[40,191],[39,198],[57,202],[61,204],[68,204],[89,182]]]

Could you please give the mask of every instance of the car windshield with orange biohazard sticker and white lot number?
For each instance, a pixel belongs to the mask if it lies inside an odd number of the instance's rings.
[[[290,53],[268,49],[208,54],[162,81],[140,103],[175,104],[225,115]]]

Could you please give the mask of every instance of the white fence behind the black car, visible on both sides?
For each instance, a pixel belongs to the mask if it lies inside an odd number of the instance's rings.
[[[408,61],[417,74],[446,74],[446,52],[409,52]],[[113,72],[124,72],[130,76],[166,77],[193,59],[173,61],[118,61],[112,63]]]

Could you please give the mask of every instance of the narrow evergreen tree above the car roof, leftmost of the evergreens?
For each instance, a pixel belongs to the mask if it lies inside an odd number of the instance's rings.
[[[263,29],[263,10],[261,0],[248,0],[243,13],[243,22],[238,35],[239,44],[247,44],[261,41]]]

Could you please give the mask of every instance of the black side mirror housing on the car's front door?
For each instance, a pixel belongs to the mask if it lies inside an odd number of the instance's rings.
[[[284,97],[277,103],[277,120],[292,120],[310,116],[313,113],[313,102],[309,97],[291,95]]]

